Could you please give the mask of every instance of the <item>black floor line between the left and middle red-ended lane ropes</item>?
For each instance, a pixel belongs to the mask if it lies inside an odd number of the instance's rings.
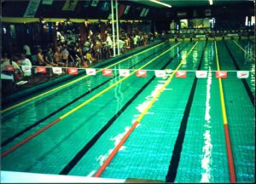
[[[188,45],[189,45],[189,43],[187,43],[186,46],[185,46],[183,49],[185,49]],[[174,60],[174,59],[177,57],[177,55],[178,55],[179,53],[181,53],[181,51],[182,51],[183,49],[181,49],[176,55],[174,55],[170,60],[168,60],[168,62],[166,62],[166,64],[165,64],[165,66],[161,67],[160,70],[165,69],[166,66],[168,66],[168,65],[172,62],[172,60]],[[108,123],[105,124],[105,125],[102,127],[102,129],[101,129],[100,131],[98,131],[97,134],[94,135],[94,137],[93,137],[93,138],[92,138],[92,139],[91,139],[74,157],[73,157],[73,159],[65,166],[65,168],[64,168],[63,170],[61,170],[60,175],[67,175],[67,174],[73,169],[73,167],[74,167],[76,164],[79,163],[80,159],[84,157],[84,154],[86,154],[86,152],[88,152],[88,151],[90,150],[90,148],[95,145],[96,141],[98,141],[98,140],[101,138],[101,136],[104,134],[104,132],[107,131],[108,128],[113,124],[113,122],[114,122],[117,118],[119,118],[119,116],[120,116],[123,112],[125,112],[125,109],[126,109],[128,106],[131,105],[131,102],[134,101],[134,100],[137,98],[137,96],[140,95],[140,94],[143,92],[144,89],[146,89],[146,88],[148,87],[148,85],[154,80],[154,78],[155,78],[155,76],[153,76],[152,78],[150,78],[150,79],[148,80],[148,82],[145,83],[145,84],[143,85],[143,87],[142,87],[141,89],[139,89],[139,90],[137,91],[137,93],[136,93],[135,95],[133,95],[133,96],[131,97],[131,99],[125,103],[125,105],[119,110],[119,112],[117,112],[116,114],[114,114],[113,117],[108,120]]]

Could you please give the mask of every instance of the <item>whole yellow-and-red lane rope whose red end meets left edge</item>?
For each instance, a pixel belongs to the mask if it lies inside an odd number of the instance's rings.
[[[143,69],[143,67],[148,66],[149,64],[151,64],[154,60],[160,58],[160,56],[165,55],[169,50],[177,47],[177,45],[180,43],[177,43],[175,45],[173,45],[170,49],[167,49],[165,52],[161,53],[160,55],[156,56],[154,59],[148,61],[148,63],[146,63],[145,65],[141,66],[140,68],[138,68],[137,70],[141,70]],[[49,129],[49,127],[51,127],[52,125],[60,122],[62,119],[67,118],[67,116],[69,116],[70,114],[72,114],[73,112],[76,112],[77,110],[79,110],[79,108],[85,106],[86,104],[90,103],[90,101],[95,100],[97,97],[101,96],[102,94],[106,93],[109,89],[112,89],[114,86],[116,86],[119,83],[122,83],[125,79],[131,77],[131,75],[133,75],[134,73],[136,73],[137,71],[131,72],[129,76],[126,76],[125,78],[120,79],[118,82],[113,83],[112,85],[108,86],[108,88],[103,89],[101,92],[99,92],[98,94],[92,96],[89,100],[84,101],[82,104],[80,104],[79,106],[76,106],[73,108],[73,110],[65,113],[64,115],[62,115],[60,118],[57,118],[54,122],[48,124],[47,126],[45,126],[43,129],[39,129],[36,133],[30,135],[29,137],[27,137],[25,140],[20,141],[18,144],[16,144],[14,147],[11,147],[9,150],[3,152],[1,154],[1,158],[5,157],[6,155],[8,155],[10,152],[13,152],[15,149],[17,149],[18,147],[22,146],[23,144],[25,144],[27,141],[30,141],[33,137],[35,137],[36,135],[39,135],[40,133],[42,133],[45,129]]]

